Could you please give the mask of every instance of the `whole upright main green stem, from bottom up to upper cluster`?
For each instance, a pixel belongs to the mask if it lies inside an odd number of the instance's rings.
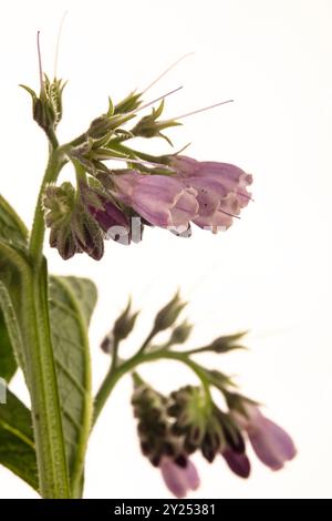
[[[56,142],[54,142],[54,146]],[[27,376],[40,480],[45,499],[71,497],[60,398],[49,316],[46,262],[43,258],[45,186],[55,182],[65,160],[61,149],[52,149],[38,197],[29,244],[30,274],[24,278],[23,324]]]

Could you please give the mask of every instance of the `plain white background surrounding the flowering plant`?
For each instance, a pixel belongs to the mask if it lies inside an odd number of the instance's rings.
[[[201,498],[331,498],[331,22],[329,0],[62,1],[12,0],[1,9],[1,194],[30,224],[46,155],[31,121],[28,95],[38,89],[35,32],[42,31],[45,71],[69,9],[59,75],[69,79],[61,141],[86,129],[118,100],[144,88],[172,61],[183,62],[147,98],[180,84],[167,103],[173,116],[234,98],[236,103],[186,120],[172,136],[193,142],[190,155],[238,164],[255,175],[251,204],[226,234],[195,229],[191,239],[149,229],[129,248],[107,244],[98,264],[64,263],[48,252],[53,272],[92,277],[100,302],[92,327],[94,387],[107,368],[98,343],[133,295],[141,329],[176,287],[196,324],[190,345],[250,329],[248,354],[206,356],[207,365],[237,374],[243,390],[294,437],[299,456],[279,473],[253,460],[241,481],[221,459],[195,461]],[[163,143],[142,147],[164,152]],[[68,174],[71,175],[70,171]],[[144,377],[169,390],[195,378],[158,362]],[[14,387],[24,397],[22,382]],[[131,380],[115,390],[91,439],[86,498],[168,498],[158,471],[141,456],[129,406]],[[35,493],[0,469],[1,498]]]

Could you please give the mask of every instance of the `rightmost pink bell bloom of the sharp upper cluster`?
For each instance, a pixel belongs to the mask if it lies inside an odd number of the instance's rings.
[[[247,186],[252,176],[238,166],[211,161],[199,162],[191,157],[173,156],[170,165],[177,178],[197,191],[199,211],[194,223],[217,232],[228,228],[232,217],[247,206],[251,196]]]

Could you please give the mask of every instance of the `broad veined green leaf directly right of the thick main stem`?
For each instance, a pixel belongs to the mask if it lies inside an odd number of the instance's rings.
[[[96,303],[91,280],[51,277],[50,316],[72,491],[81,486],[92,421],[87,327]]]

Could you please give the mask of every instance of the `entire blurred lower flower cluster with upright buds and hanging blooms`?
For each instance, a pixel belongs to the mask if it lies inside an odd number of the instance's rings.
[[[191,326],[178,317],[185,304],[179,294],[156,315],[154,325],[143,346],[134,356],[132,403],[137,419],[137,430],[143,454],[160,469],[166,486],[177,498],[184,498],[199,486],[198,471],[193,462],[197,451],[211,463],[220,457],[240,478],[249,478],[251,463],[247,454],[248,441],[259,460],[271,470],[280,470],[295,457],[290,436],[266,418],[259,403],[238,391],[236,382],[224,372],[208,369],[197,361],[203,353],[222,355],[242,345],[245,333],[221,336],[210,344],[186,349]],[[113,330],[102,344],[118,369],[127,361],[116,361],[120,344],[132,333],[137,313],[131,303],[116,320]],[[156,341],[160,331],[168,331],[168,340]],[[146,361],[170,359],[187,365],[198,377],[198,386],[185,386],[162,395],[143,380],[136,367]],[[224,407],[216,402],[211,389],[222,396]]]

